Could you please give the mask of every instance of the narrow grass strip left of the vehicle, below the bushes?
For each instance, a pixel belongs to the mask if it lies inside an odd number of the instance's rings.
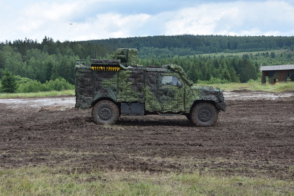
[[[14,97],[44,97],[44,96],[58,96],[58,95],[75,95],[75,90],[63,91],[46,91],[36,93],[0,93],[0,98],[8,99]]]

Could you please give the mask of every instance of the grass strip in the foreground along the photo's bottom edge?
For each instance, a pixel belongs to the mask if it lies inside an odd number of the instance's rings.
[[[294,195],[291,180],[209,172],[104,172],[75,168],[1,168],[0,195]]]

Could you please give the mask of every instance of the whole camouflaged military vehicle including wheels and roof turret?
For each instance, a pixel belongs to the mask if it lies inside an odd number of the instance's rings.
[[[112,60],[76,61],[76,107],[92,107],[96,124],[115,124],[120,115],[185,115],[210,127],[226,110],[219,88],[193,84],[177,65],[138,66],[137,55],[124,48]]]

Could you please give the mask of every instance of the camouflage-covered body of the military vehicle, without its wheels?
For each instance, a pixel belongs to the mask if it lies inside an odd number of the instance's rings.
[[[90,108],[99,100],[112,100],[118,104],[145,103],[147,113],[179,114],[189,113],[195,101],[207,100],[225,111],[221,90],[193,84],[178,65],[137,67],[137,58],[132,57],[137,54],[136,49],[118,49],[116,60],[76,65],[76,107]],[[133,60],[132,66],[121,63],[126,55]]]

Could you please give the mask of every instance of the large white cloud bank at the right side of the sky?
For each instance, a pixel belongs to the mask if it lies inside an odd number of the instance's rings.
[[[294,26],[293,6],[281,1],[229,2],[184,8],[166,23],[172,34],[286,35]],[[292,28],[292,27],[291,27]],[[289,29],[289,28],[288,28]]]

